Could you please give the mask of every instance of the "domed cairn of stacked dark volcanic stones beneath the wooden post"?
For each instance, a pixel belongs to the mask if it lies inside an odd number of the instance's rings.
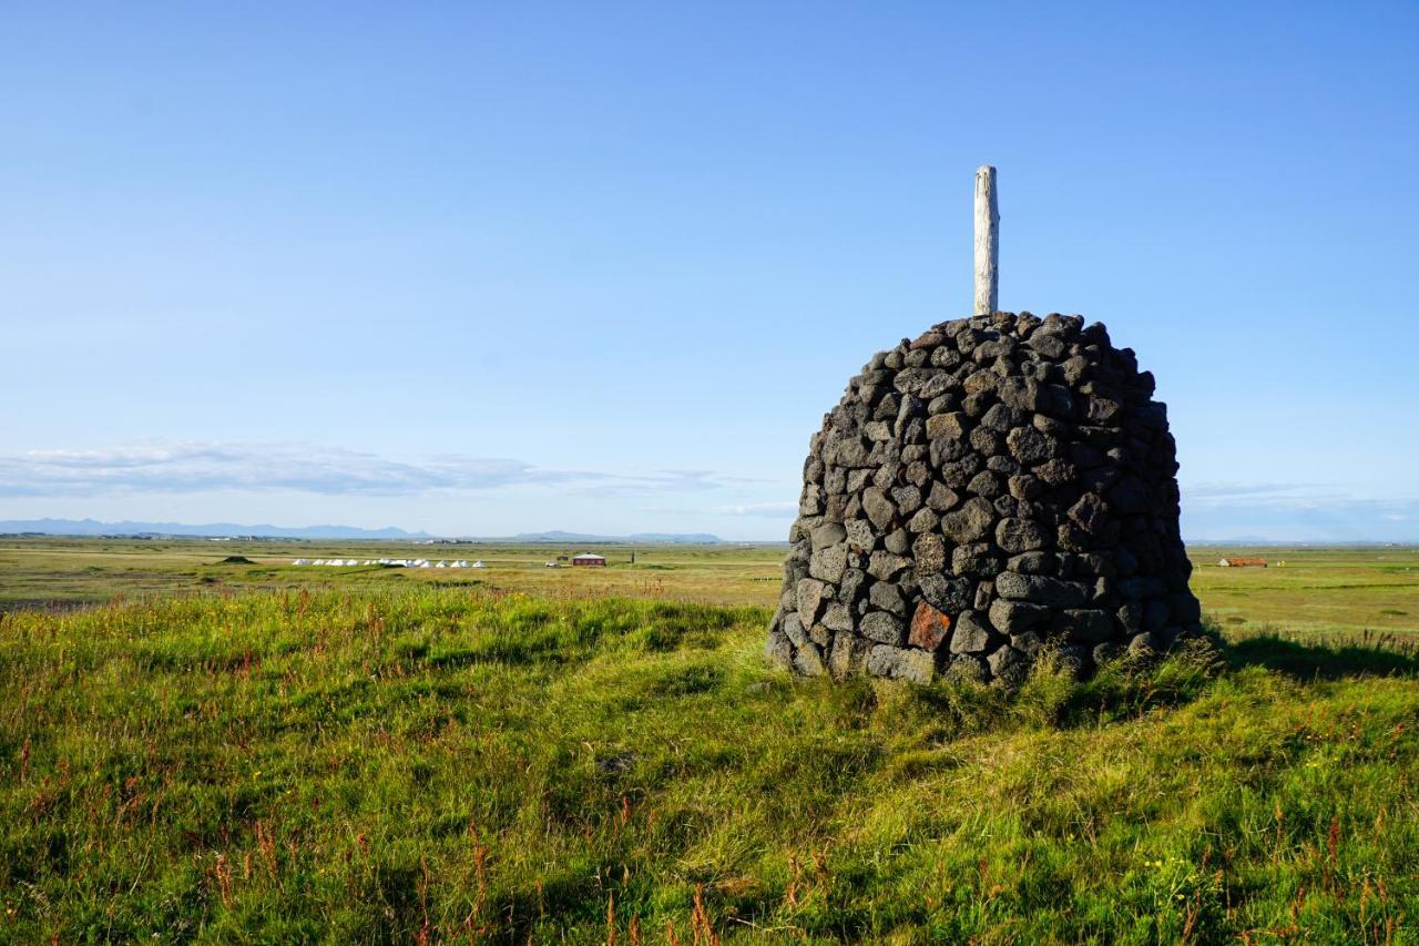
[[[1198,634],[1152,393],[1077,315],[959,318],[874,355],[810,440],[769,660],[1010,683],[1047,645],[1087,673]]]

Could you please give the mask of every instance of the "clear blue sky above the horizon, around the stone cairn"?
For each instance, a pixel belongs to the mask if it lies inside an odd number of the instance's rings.
[[[0,82],[0,518],[782,538],[989,162],[1188,538],[1419,540],[1412,3],[6,4]]]

